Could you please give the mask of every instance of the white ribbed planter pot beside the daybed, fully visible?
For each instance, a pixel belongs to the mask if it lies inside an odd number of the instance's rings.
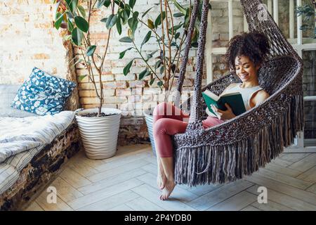
[[[93,160],[110,158],[117,151],[117,136],[121,110],[102,108],[101,112],[113,114],[106,117],[82,117],[86,113],[97,113],[98,108],[76,111],[76,120],[86,156]]]

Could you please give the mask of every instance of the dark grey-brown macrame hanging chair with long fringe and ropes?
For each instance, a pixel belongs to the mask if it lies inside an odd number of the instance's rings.
[[[193,6],[185,55],[180,68],[177,90],[181,93],[199,1]],[[182,105],[189,105],[190,120],[183,134],[172,136],[175,150],[175,181],[196,186],[242,179],[282,153],[294,143],[303,129],[303,85],[301,58],[277,27],[260,0],[241,0],[249,31],[265,34],[270,43],[268,59],[258,72],[259,84],[270,97],[251,110],[216,127],[204,129],[207,115],[202,91],[220,94],[230,83],[240,82],[235,74],[226,75],[202,88],[204,49],[209,1],[203,0],[197,50],[194,95]],[[259,13],[268,13],[261,19]],[[176,98],[175,104],[178,104]]]

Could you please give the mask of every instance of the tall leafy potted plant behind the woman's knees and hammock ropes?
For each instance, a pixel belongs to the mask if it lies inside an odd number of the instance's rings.
[[[176,10],[171,10],[171,4],[175,6]],[[181,56],[183,56],[185,40],[188,36],[187,33],[192,7],[191,2],[181,6],[176,0],[159,0],[159,4],[148,8],[140,16],[138,11],[133,11],[133,8],[127,6],[132,14],[128,23],[129,32],[128,36],[122,37],[119,41],[130,43],[131,46],[119,53],[119,58],[124,58],[126,51],[131,51],[132,49],[136,51],[137,56],[127,63],[123,73],[124,75],[129,73],[134,60],[142,60],[146,68],[138,74],[138,79],[146,79],[149,86],[159,86],[164,97],[163,101],[165,102],[169,101],[169,96],[174,90],[174,84],[180,71],[180,59]],[[156,18],[152,18],[150,15],[152,11],[159,12]],[[201,11],[202,4],[199,8],[199,16],[192,34],[192,47],[197,47]],[[145,15],[147,15],[147,17],[145,17]],[[142,32],[145,34],[140,45],[136,44],[137,41],[135,38],[138,24],[142,24]],[[157,49],[145,54],[143,46],[149,43],[148,41],[150,41],[150,39],[154,39]],[[152,44],[152,42],[150,44]],[[144,114],[150,142],[152,144],[152,151],[155,154],[156,151],[154,149],[154,139],[152,136],[152,110],[153,108],[149,108],[145,110]]]

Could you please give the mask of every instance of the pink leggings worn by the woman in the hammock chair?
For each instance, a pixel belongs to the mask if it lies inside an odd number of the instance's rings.
[[[190,115],[183,113],[170,103],[159,103],[153,112],[154,146],[160,158],[173,157],[173,145],[171,135],[184,133]],[[216,117],[207,117],[203,120],[203,127],[213,127],[223,123]]]

